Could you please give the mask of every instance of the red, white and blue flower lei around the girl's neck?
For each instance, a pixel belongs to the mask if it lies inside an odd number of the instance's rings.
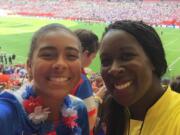
[[[44,107],[43,100],[40,96],[36,95],[32,85],[26,86],[25,91],[21,96],[23,99],[22,105],[32,124],[41,125],[47,123],[48,116],[51,113],[50,109],[48,107]],[[68,129],[72,135],[81,134],[81,130],[76,122],[78,119],[77,110],[73,108],[72,99],[69,95],[64,98],[60,115],[62,116],[62,125],[65,129]],[[54,128],[51,131],[48,131],[46,135],[56,135],[56,127],[58,127],[59,121],[56,119],[53,123]]]

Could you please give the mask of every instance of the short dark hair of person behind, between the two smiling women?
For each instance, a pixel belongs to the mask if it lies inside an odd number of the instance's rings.
[[[95,33],[86,29],[75,30],[74,33],[77,35],[81,42],[82,52],[88,51],[89,54],[97,52],[99,49],[98,37]]]

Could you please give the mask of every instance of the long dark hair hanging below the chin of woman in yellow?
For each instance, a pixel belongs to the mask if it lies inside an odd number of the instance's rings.
[[[105,123],[106,135],[123,135],[130,115],[128,109],[118,104],[107,92],[103,98],[103,103],[98,108],[98,117],[100,117],[100,121],[95,128],[96,134],[101,129],[102,123]]]

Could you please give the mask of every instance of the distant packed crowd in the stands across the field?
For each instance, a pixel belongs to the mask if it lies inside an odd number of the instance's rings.
[[[0,5],[11,14],[20,15],[104,22],[130,19],[150,24],[180,23],[177,0],[2,0]]]

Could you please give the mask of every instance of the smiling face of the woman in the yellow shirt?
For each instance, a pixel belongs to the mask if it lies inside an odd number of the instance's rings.
[[[100,59],[107,89],[119,104],[130,106],[150,90],[153,66],[131,34],[109,31],[101,43]]]

